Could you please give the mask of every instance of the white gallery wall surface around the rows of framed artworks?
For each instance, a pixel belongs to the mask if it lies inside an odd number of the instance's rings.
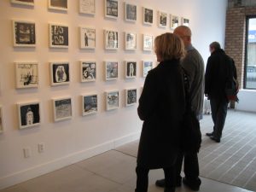
[[[143,51],[143,34],[154,37],[172,32],[157,26],[157,12],[164,11],[189,19],[193,44],[204,60],[209,56],[208,45],[218,41],[224,45],[225,11],[227,1],[215,0],[127,0],[137,4],[137,22],[124,20],[124,3],[119,0],[117,20],[104,17],[104,0],[96,0],[96,15],[79,14],[79,0],[69,0],[67,12],[48,9],[47,0],[35,0],[33,7],[16,5],[9,0],[0,1],[0,105],[3,112],[3,133],[0,133],[0,189],[20,183],[46,172],[54,171],[100,154],[139,137],[143,122],[137,117],[137,105],[125,107],[125,89],[136,88],[139,97],[143,87],[143,60],[156,64],[154,52]],[[143,7],[154,9],[153,26],[143,25]],[[218,11],[217,11],[218,10]],[[216,12],[217,11],[217,12]],[[218,14],[217,14],[218,13]],[[36,23],[35,48],[13,46],[12,20],[31,20]],[[67,25],[67,49],[49,48],[49,23]],[[79,26],[96,28],[96,49],[80,49]],[[103,30],[119,32],[119,49],[104,49]],[[137,49],[127,51],[125,32],[137,33]],[[124,61],[137,61],[137,78],[125,79]],[[15,64],[36,61],[39,67],[38,88],[15,88]],[[71,82],[51,86],[49,62],[68,61]],[[96,61],[96,81],[80,82],[79,61]],[[119,61],[119,78],[105,81],[103,61]],[[104,92],[119,90],[119,108],[105,109]],[[98,94],[98,113],[82,116],[81,95]],[[64,96],[73,99],[73,117],[54,121],[52,99]],[[40,102],[41,124],[19,129],[17,103]],[[44,150],[38,152],[38,144]],[[29,157],[24,157],[24,148]]]

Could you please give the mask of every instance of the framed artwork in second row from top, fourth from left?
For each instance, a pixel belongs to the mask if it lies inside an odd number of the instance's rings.
[[[105,30],[105,49],[119,48],[119,32]]]

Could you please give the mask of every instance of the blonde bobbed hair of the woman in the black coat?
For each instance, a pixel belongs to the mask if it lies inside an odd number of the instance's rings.
[[[179,60],[186,53],[182,39],[171,32],[161,34],[154,39],[154,52],[162,61]]]

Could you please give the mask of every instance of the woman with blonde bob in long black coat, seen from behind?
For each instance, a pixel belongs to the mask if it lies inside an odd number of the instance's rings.
[[[137,113],[143,130],[137,154],[136,192],[148,191],[148,172],[163,168],[165,192],[175,191],[174,164],[180,150],[180,125],[185,111],[181,38],[166,32],[154,39],[159,65],[148,72]]]

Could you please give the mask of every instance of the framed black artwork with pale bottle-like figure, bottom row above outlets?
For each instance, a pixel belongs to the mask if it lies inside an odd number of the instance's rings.
[[[17,106],[20,129],[40,125],[40,102],[18,103]]]

